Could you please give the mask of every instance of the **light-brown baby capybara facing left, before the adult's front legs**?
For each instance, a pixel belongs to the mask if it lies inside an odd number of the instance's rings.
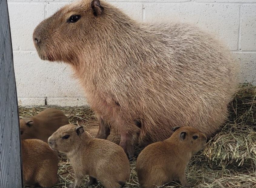
[[[88,184],[100,180],[105,188],[123,187],[130,177],[130,164],[124,150],[117,144],[99,138],[92,138],[83,126],[64,125],[48,139],[49,146],[66,154],[74,169],[75,182],[79,187],[85,175],[90,176]]]

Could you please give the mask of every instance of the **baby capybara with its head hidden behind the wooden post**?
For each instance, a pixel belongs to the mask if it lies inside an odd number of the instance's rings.
[[[58,156],[55,151],[38,139],[22,140],[21,144],[23,185],[54,186],[58,181]]]

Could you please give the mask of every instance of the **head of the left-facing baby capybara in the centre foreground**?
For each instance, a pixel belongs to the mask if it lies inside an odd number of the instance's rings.
[[[83,133],[83,126],[74,124],[64,125],[58,128],[58,130],[48,138],[48,144],[52,149],[66,154],[74,150],[76,146],[80,144],[80,136]]]

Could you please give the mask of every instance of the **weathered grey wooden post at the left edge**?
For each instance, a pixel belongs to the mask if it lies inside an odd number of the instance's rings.
[[[0,0],[0,187],[21,188],[18,101],[7,0]]]

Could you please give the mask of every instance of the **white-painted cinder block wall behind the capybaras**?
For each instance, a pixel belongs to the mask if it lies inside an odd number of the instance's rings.
[[[241,63],[241,82],[256,83],[256,0],[108,0],[138,21],[192,22],[223,40]],[[37,24],[69,0],[8,0],[19,105],[86,105],[66,64],[39,59]]]

